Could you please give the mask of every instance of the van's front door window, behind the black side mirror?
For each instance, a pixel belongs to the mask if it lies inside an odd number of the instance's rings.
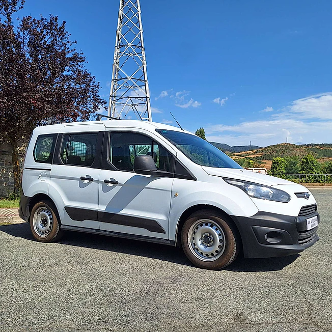
[[[133,132],[111,134],[109,161],[118,170],[133,172],[135,157],[145,154],[153,157],[158,170],[170,171],[171,153],[150,139],[150,137]]]

